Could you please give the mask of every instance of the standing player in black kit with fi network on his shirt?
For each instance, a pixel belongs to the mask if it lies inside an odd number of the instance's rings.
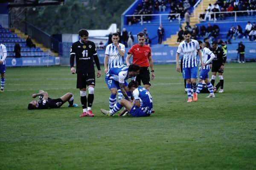
[[[95,70],[93,65],[93,59],[97,66],[97,78],[101,76],[101,70],[99,65],[99,58],[97,56],[96,46],[94,42],[88,41],[89,33],[85,29],[79,31],[80,40],[74,42],[70,51],[70,67],[71,73],[77,74],[76,88],[80,89],[81,104],[83,113],[80,117],[90,116],[94,114],[91,111],[94,98],[95,87]],[[74,68],[74,59],[76,57],[76,69]],[[88,86],[88,108],[86,87]]]

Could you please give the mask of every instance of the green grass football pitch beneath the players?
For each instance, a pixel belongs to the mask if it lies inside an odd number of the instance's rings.
[[[1,170],[256,169],[256,63],[227,63],[224,93],[187,103],[176,65],[154,65],[155,113],[107,117],[110,91],[96,79],[93,113],[82,113],[76,75],[65,66],[7,68],[0,93]],[[215,85],[219,82],[218,76]],[[78,108],[27,110],[32,94],[74,94]]]

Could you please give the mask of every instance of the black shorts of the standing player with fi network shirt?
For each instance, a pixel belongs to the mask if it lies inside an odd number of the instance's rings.
[[[95,85],[95,72],[77,74],[76,88],[86,88],[86,85]]]

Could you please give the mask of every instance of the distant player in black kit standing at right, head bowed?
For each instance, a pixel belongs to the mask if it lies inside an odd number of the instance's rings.
[[[222,48],[218,47],[218,42],[213,41],[212,42],[212,48],[209,48],[213,54],[215,55],[215,58],[212,60],[212,86],[214,86],[216,73],[218,72],[218,76],[221,82],[221,89],[218,91],[219,93],[223,93],[223,87],[224,87],[224,79],[223,79],[223,72],[224,72],[224,65],[227,59],[227,56]]]

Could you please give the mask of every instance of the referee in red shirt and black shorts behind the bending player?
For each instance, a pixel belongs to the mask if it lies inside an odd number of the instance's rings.
[[[141,85],[143,82],[144,88],[149,91],[150,87],[150,73],[148,67],[151,69],[151,79],[154,79],[154,69],[153,69],[153,59],[151,57],[151,48],[148,45],[145,45],[145,34],[140,32],[137,34],[138,44],[135,44],[128,51],[128,55],[125,59],[126,64],[130,65],[129,59],[131,56],[132,64],[140,66],[140,73],[136,77],[136,81]]]

